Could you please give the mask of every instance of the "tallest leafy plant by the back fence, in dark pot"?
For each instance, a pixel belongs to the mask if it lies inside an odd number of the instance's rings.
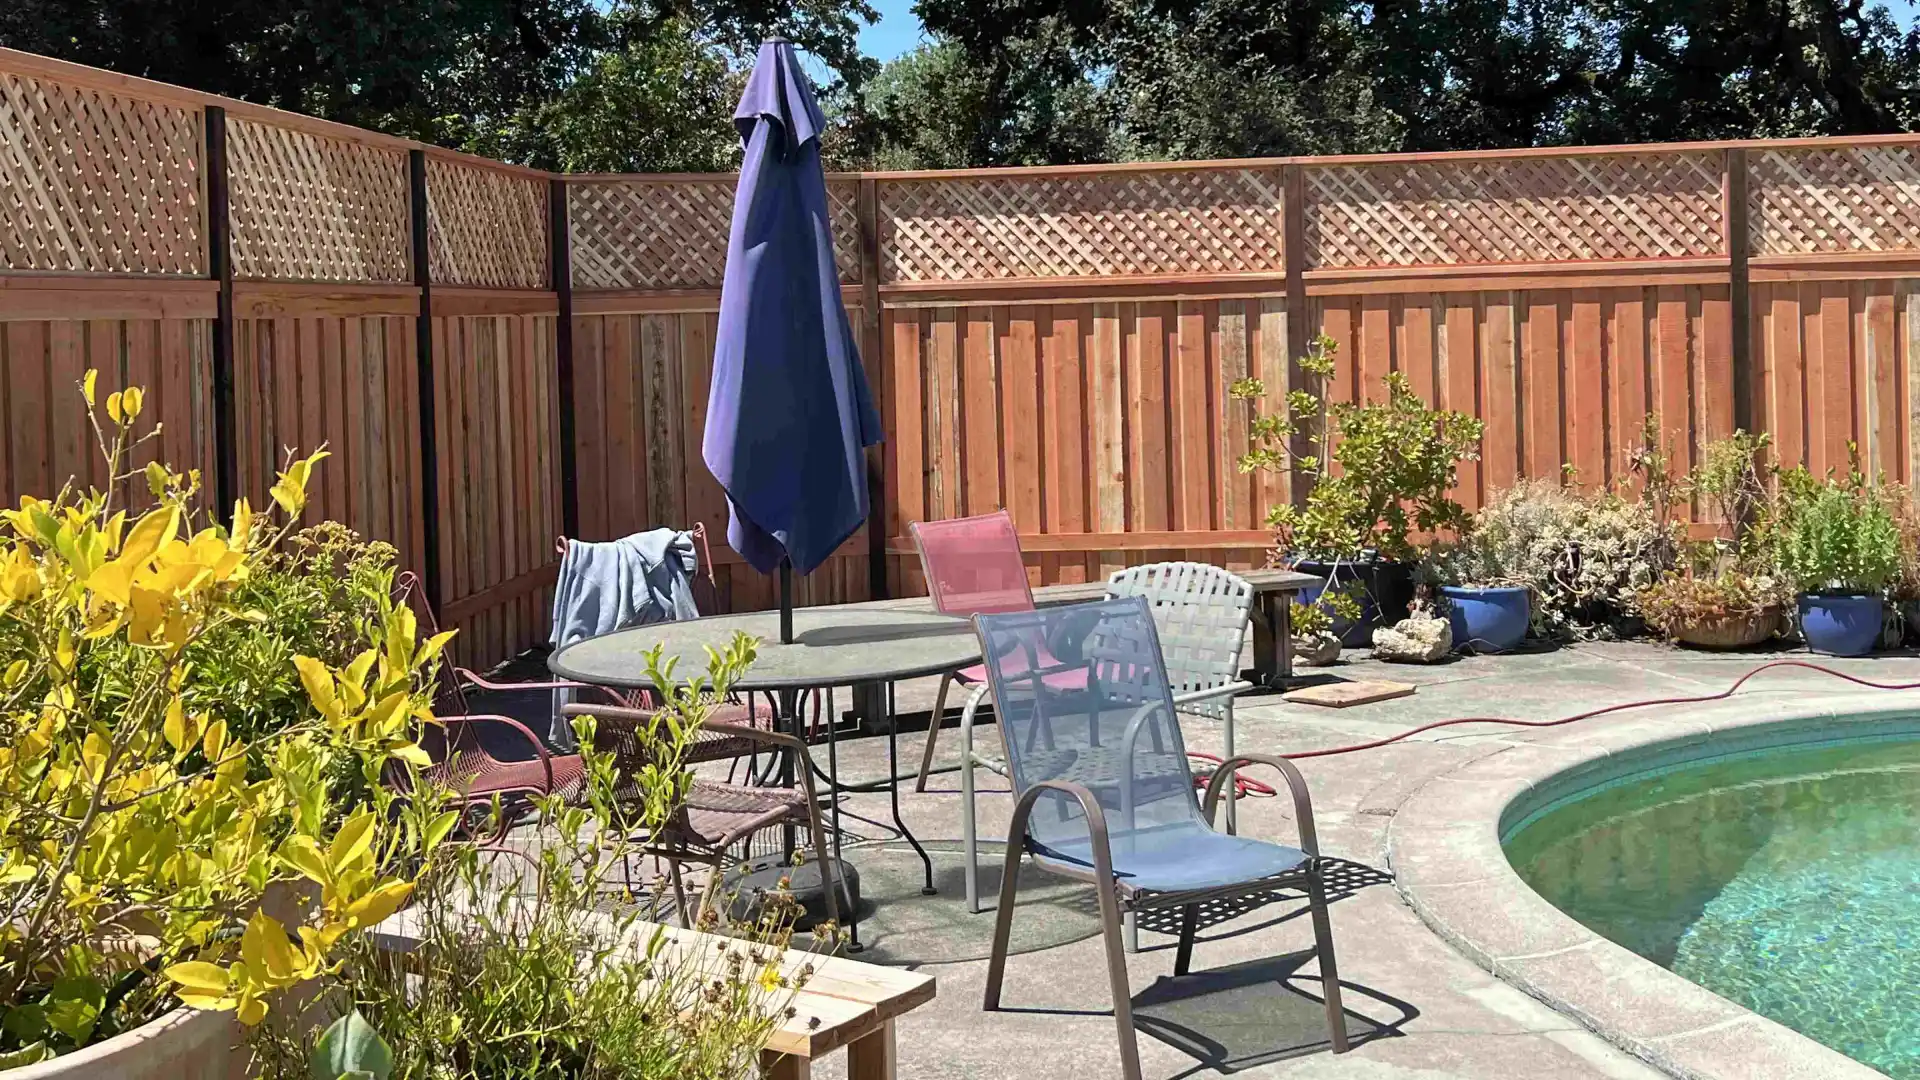
[[[1279,557],[1294,569],[1325,577],[1329,586],[1357,584],[1363,615],[1344,636],[1365,644],[1375,626],[1407,615],[1413,534],[1467,525],[1467,511],[1450,492],[1459,463],[1478,457],[1482,425],[1467,413],[1428,407],[1398,371],[1384,380],[1384,400],[1329,404],[1334,350],[1336,342],[1321,334],[1296,361],[1306,386],[1290,390],[1283,409],[1256,415],[1240,471],[1290,469],[1296,482],[1311,482],[1302,505],[1273,507],[1267,525]],[[1229,392],[1254,402],[1267,388],[1242,379]]]

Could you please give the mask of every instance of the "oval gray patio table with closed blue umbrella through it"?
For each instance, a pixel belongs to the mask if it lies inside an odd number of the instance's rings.
[[[801,607],[793,613],[793,642],[780,640],[780,613],[753,611],[747,615],[708,615],[684,623],[651,623],[630,626],[597,638],[586,638],[557,650],[547,667],[561,678],[616,686],[622,690],[651,690],[647,680],[647,651],[660,650],[660,663],[678,659],[678,671],[705,673],[707,648],[724,648],[735,632],[760,640],[753,667],[733,684],[737,690],[774,692],[780,701],[776,723],[804,738],[799,717],[799,698],[806,690],[839,686],[887,686],[887,798],[893,807],[893,826],[914,846],[925,871],[922,892],[933,896],[933,859],[900,821],[900,780],[897,765],[895,698],[893,688],[902,678],[945,675],[979,663],[979,638],[973,625],[954,615],[931,611],[897,611],[874,607]],[[929,723],[939,723],[933,717]],[[833,724],[828,721],[828,736]],[[833,761],[829,757],[829,761]],[[829,765],[829,782],[839,786],[837,761]],[[870,790],[862,784],[860,790]],[[835,799],[835,817],[839,799]],[[837,838],[835,830],[835,838]],[[837,846],[837,840],[835,840]],[[822,855],[824,857],[824,855]]]

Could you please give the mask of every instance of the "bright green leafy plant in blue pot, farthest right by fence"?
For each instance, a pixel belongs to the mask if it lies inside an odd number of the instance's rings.
[[[1866,655],[1882,632],[1882,590],[1901,569],[1901,536],[1885,502],[1860,482],[1816,482],[1797,469],[1782,477],[1784,513],[1774,544],[1780,571],[1799,590],[1807,646],[1830,655]]]

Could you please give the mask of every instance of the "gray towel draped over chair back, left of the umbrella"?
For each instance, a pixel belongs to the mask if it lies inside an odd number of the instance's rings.
[[[553,648],[611,634],[624,626],[699,619],[693,605],[693,573],[699,559],[693,536],[672,528],[636,532],[605,544],[568,540],[561,577],[553,586]],[[570,692],[553,701],[553,746],[574,748],[574,730],[561,717]]]

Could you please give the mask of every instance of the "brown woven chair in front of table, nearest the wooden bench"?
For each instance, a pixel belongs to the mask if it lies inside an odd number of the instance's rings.
[[[593,749],[612,755],[620,784],[628,784],[649,761],[645,740],[639,730],[653,719],[647,709],[618,705],[563,705],[566,717],[591,715],[595,721]],[[756,832],[776,826],[804,828],[814,846],[814,859],[822,869],[822,888],[828,919],[839,922],[843,882],[839,869],[826,842],[826,824],[820,821],[820,798],[814,794],[814,765],[806,755],[806,744],[799,738],[756,726],[730,724],[708,719],[701,724],[701,749],[716,746],[747,746],[791,753],[795,757],[801,788],[774,788],[760,784],[732,784],[695,778],[693,790],[676,815],[657,832],[645,838],[643,853],[662,859],[674,884],[674,897],[680,905],[680,919],[687,926],[697,926],[712,903],[720,872],[728,867],[728,851],[735,844],[751,840]],[[634,792],[637,796],[637,792]],[[616,792],[618,798],[618,792]],[[685,878],[682,865],[699,863],[708,867],[707,888],[699,907],[687,907]],[[849,897],[851,899],[851,897]]]

